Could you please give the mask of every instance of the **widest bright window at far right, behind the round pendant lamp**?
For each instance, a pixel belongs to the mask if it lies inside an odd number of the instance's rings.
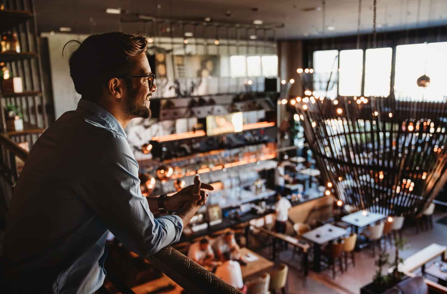
[[[398,99],[443,101],[447,95],[445,69],[447,42],[396,47],[394,91]],[[421,75],[430,77],[430,86],[417,86]]]

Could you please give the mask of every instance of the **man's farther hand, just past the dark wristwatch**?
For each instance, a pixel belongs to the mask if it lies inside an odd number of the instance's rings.
[[[196,186],[196,180],[198,181],[198,188]],[[194,188],[197,190],[194,190]],[[194,177],[194,185],[183,188],[171,197],[166,197],[164,199],[164,207],[170,211],[184,210],[192,199],[198,201],[199,205],[204,205],[207,203],[208,197],[205,190],[214,190],[214,188],[213,186],[200,182],[200,177],[196,175]]]

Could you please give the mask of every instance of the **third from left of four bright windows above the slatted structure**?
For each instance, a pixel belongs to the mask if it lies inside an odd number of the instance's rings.
[[[365,56],[365,96],[388,96],[391,82],[391,48],[367,49]]]

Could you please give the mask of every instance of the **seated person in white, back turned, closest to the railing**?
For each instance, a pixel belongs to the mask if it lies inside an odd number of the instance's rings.
[[[223,253],[223,263],[217,267],[215,275],[236,289],[246,293],[247,286],[245,286],[242,281],[240,264],[239,262],[232,260],[232,258],[232,253],[229,251]]]

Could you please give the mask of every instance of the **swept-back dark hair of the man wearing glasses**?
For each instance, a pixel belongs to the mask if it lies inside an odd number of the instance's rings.
[[[124,32],[91,35],[80,42],[68,41],[63,47],[77,45],[68,57],[70,76],[76,92],[86,99],[101,95],[101,84],[117,75],[129,75],[131,56],[146,51],[146,37]]]

